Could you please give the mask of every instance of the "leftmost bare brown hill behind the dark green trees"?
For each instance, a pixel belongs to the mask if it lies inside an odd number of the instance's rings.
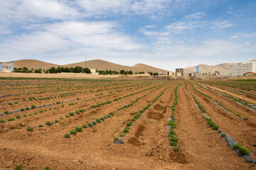
[[[43,67],[45,67],[46,69],[50,69],[50,67],[58,67],[58,65],[52,64],[49,62],[42,62],[39,60],[16,60],[14,61],[14,67],[15,68],[28,67],[28,69],[40,69],[40,68],[43,69]]]

